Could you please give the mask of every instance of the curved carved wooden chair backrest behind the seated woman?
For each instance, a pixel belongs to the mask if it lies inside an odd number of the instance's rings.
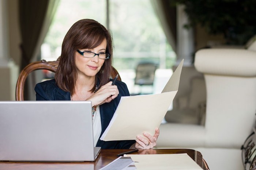
[[[24,100],[24,86],[26,82],[26,78],[29,73],[33,72],[34,70],[49,70],[51,72],[56,72],[57,67],[59,65],[59,58],[56,61],[36,61],[32,62],[27,65],[19,74],[17,84],[16,84],[16,100],[23,101]],[[112,72],[110,78],[115,77],[118,74],[117,70],[112,67]],[[118,76],[117,80],[121,81],[120,75]]]

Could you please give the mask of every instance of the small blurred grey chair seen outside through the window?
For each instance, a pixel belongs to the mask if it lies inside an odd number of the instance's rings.
[[[142,92],[142,86],[152,86],[155,79],[155,70],[158,65],[153,62],[140,62],[136,67],[136,76],[134,80],[135,85],[140,86],[140,93]]]

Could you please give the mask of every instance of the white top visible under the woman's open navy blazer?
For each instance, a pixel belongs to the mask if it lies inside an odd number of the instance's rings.
[[[101,114],[99,111],[99,106],[93,116],[93,139],[94,139],[94,147],[96,146],[99,136],[101,135]]]

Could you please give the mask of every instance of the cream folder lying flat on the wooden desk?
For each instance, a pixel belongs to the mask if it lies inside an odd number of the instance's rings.
[[[132,158],[136,170],[202,170],[187,154],[126,155]]]

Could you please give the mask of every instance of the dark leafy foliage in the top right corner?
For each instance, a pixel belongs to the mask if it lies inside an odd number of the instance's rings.
[[[190,24],[200,24],[209,34],[223,34],[226,43],[244,45],[256,34],[256,0],[172,0],[185,5]]]

